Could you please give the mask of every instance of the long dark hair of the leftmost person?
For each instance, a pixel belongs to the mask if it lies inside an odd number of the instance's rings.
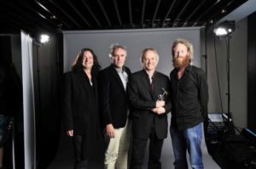
[[[76,59],[74,59],[72,64],[72,70],[79,70],[83,68],[83,56],[84,52],[89,51],[93,56],[93,65],[91,68],[92,72],[97,72],[101,70],[102,66],[99,64],[96,54],[90,48],[83,48],[80,53],[77,55]]]

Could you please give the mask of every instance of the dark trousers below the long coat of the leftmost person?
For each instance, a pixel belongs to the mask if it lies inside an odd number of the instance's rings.
[[[75,156],[74,169],[88,168],[88,155],[86,155],[86,138],[84,135],[73,136],[73,148]]]

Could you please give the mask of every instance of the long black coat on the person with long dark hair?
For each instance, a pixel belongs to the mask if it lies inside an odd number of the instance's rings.
[[[96,76],[92,76],[93,86],[83,69],[65,74],[62,98],[62,120],[64,130],[74,134],[100,133],[98,112],[98,91]]]

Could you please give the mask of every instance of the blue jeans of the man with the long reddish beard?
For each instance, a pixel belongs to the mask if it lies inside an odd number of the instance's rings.
[[[175,169],[188,169],[187,149],[193,169],[203,169],[201,155],[202,122],[195,127],[177,130],[170,127],[172,147],[175,156]]]

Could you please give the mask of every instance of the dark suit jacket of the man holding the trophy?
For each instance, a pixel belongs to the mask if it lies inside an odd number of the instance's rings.
[[[132,106],[132,134],[137,138],[148,138],[152,125],[155,125],[157,138],[167,137],[167,113],[171,110],[170,101],[170,81],[168,76],[160,72],[154,72],[154,93],[151,93],[148,74],[145,70],[133,73],[128,84],[128,95]],[[163,93],[165,88],[167,95],[165,101],[166,113],[162,115],[154,114],[151,109],[155,107],[158,96]]]

